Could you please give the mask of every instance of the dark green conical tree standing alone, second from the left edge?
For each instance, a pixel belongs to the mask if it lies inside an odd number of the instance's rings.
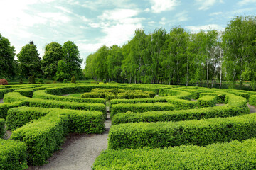
[[[41,58],[33,41],[23,46],[17,57],[21,77],[30,77],[32,75],[41,77]]]

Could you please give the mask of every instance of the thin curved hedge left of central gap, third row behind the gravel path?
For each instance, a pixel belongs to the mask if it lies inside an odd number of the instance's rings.
[[[55,101],[71,101],[78,103],[102,103],[105,104],[105,99],[103,98],[75,98],[71,96],[55,96],[52,94],[47,94],[46,91],[38,90],[33,93],[33,98],[42,98]]]

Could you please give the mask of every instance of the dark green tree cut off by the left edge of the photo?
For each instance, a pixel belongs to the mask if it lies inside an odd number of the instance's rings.
[[[14,47],[0,34],[0,77],[14,77]]]

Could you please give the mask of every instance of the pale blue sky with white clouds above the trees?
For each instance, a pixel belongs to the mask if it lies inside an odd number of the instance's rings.
[[[0,33],[16,53],[33,40],[42,57],[46,44],[71,40],[85,62],[102,45],[124,45],[137,28],[224,30],[235,16],[255,16],[256,0],[0,0],[0,8]]]

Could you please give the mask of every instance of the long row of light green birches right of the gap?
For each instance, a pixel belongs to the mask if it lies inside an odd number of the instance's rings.
[[[89,55],[85,77],[102,81],[154,84],[194,84],[208,87],[223,80],[256,86],[256,18],[237,16],[225,31],[189,33],[181,26],[167,33],[136,30],[122,47],[102,46]]]

